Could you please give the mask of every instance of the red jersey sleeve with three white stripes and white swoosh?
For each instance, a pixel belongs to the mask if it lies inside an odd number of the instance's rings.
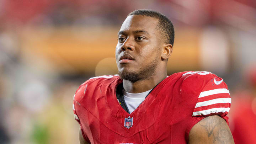
[[[194,107],[193,117],[207,117],[219,115],[228,123],[226,116],[230,110],[231,97],[229,90],[222,78],[210,74],[210,79],[205,82],[202,91],[198,93],[197,103]]]

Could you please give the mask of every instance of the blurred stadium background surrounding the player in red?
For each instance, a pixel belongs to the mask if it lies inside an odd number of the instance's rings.
[[[168,74],[222,77],[235,142],[256,143],[255,0],[0,0],[0,143],[78,144],[74,92],[117,74],[117,32],[136,9],[174,23]]]

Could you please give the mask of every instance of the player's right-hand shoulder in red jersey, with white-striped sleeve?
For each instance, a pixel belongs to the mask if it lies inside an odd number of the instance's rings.
[[[185,71],[178,75],[179,98],[193,104],[192,116],[219,115],[227,121],[231,98],[222,78],[207,71]]]

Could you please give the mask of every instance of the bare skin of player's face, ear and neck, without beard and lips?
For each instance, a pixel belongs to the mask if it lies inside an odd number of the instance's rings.
[[[135,82],[123,80],[124,90],[129,93],[140,93],[153,89],[167,76],[167,59],[172,52],[172,45],[164,43],[159,30],[156,30],[156,18],[133,15],[123,22],[118,34],[116,61],[119,71],[138,71],[150,63],[156,63],[156,71],[146,79]],[[120,57],[128,53],[134,57],[130,63],[121,64]]]

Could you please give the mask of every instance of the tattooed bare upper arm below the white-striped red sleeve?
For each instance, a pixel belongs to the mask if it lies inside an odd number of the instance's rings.
[[[189,144],[234,144],[234,139],[225,120],[209,116],[195,124],[188,136]]]

